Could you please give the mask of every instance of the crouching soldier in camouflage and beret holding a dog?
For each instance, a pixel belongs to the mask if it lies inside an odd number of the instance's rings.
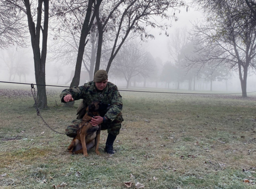
[[[110,104],[106,112],[102,113],[100,116],[92,117],[90,123],[93,126],[101,124],[101,130],[108,130],[105,151],[114,154],[113,143],[116,136],[119,134],[123,121],[121,113],[123,101],[116,85],[108,81],[107,72],[105,70],[98,70],[93,77],[93,81],[85,83],[83,86],[63,90],[60,94],[60,98],[61,102],[83,99],[77,109],[77,119],[73,120],[72,124],[66,129],[66,135],[69,137],[76,136],[76,129],[86,113],[86,107],[91,104],[92,101],[98,100]]]

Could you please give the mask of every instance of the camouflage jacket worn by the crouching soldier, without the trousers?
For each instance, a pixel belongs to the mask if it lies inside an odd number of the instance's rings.
[[[98,91],[95,87],[95,82],[90,81],[83,86],[70,87],[69,89],[63,90],[60,94],[60,98],[61,102],[65,102],[63,98],[70,94],[74,100],[83,99],[84,105],[87,107],[93,100],[98,100],[101,93],[102,91]],[[104,116],[112,122],[123,108],[122,96],[120,95],[117,86],[108,82],[100,101],[110,104],[110,108]]]

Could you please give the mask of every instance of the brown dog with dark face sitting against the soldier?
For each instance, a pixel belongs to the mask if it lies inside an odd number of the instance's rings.
[[[100,101],[93,101],[87,108],[86,114],[83,116],[83,121],[79,124],[77,136],[73,138],[68,147],[69,153],[83,153],[84,157],[88,157],[87,150],[95,146],[95,152],[99,152],[99,140],[101,125],[92,126],[89,122],[91,117],[100,115],[101,112],[108,108],[108,104]]]

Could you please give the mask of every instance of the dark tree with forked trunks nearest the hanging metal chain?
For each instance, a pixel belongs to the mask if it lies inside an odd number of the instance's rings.
[[[35,78],[37,84],[36,102],[39,108],[45,108],[47,107],[45,87],[45,62],[47,52],[49,0],[38,0],[34,2],[30,2],[29,0],[5,1],[13,9],[17,11],[22,11],[27,16],[27,24],[29,28],[31,46],[34,55]],[[43,25],[41,25],[42,22]],[[40,39],[40,32],[42,32],[42,39]]]

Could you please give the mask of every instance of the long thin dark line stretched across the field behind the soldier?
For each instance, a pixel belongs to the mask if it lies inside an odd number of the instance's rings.
[[[24,84],[24,85],[40,85],[40,86],[49,86],[49,87],[66,87],[70,88],[70,86],[58,86],[58,85],[41,85],[41,84],[31,84],[31,83],[17,83],[17,82],[7,82],[7,81],[0,81],[2,83],[12,83],[12,84]],[[187,92],[158,92],[158,91],[134,91],[134,90],[120,90],[119,91],[130,91],[130,92],[152,92],[152,93],[169,93],[169,94],[189,94],[189,95],[239,95],[243,94],[241,93],[187,93]],[[256,91],[253,91],[256,92]],[[247,93],[253,93],[253,92],[247,92]]]

